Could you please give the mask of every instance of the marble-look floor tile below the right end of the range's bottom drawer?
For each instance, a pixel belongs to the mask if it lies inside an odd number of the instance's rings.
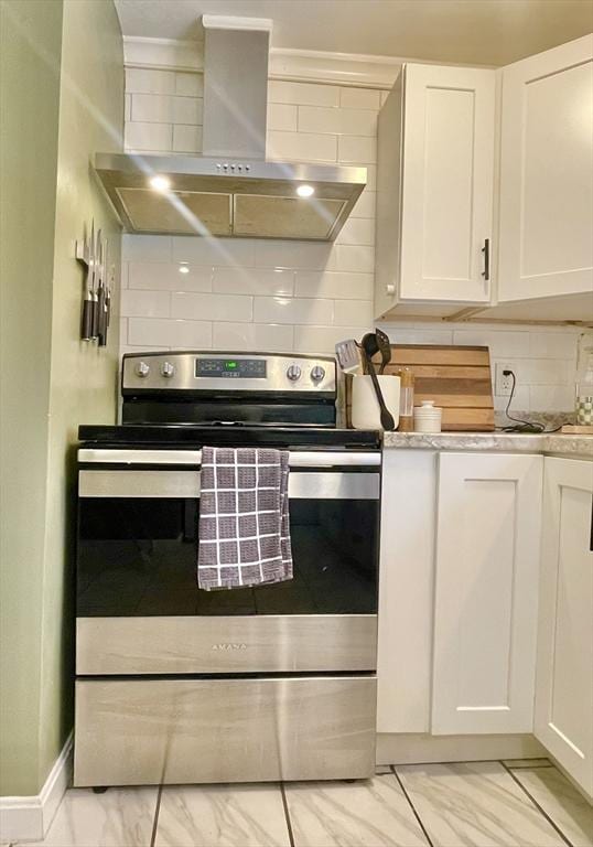
[[[290,783],[295,847],[423,847],[428,844],[393,774],[356,783]]]

